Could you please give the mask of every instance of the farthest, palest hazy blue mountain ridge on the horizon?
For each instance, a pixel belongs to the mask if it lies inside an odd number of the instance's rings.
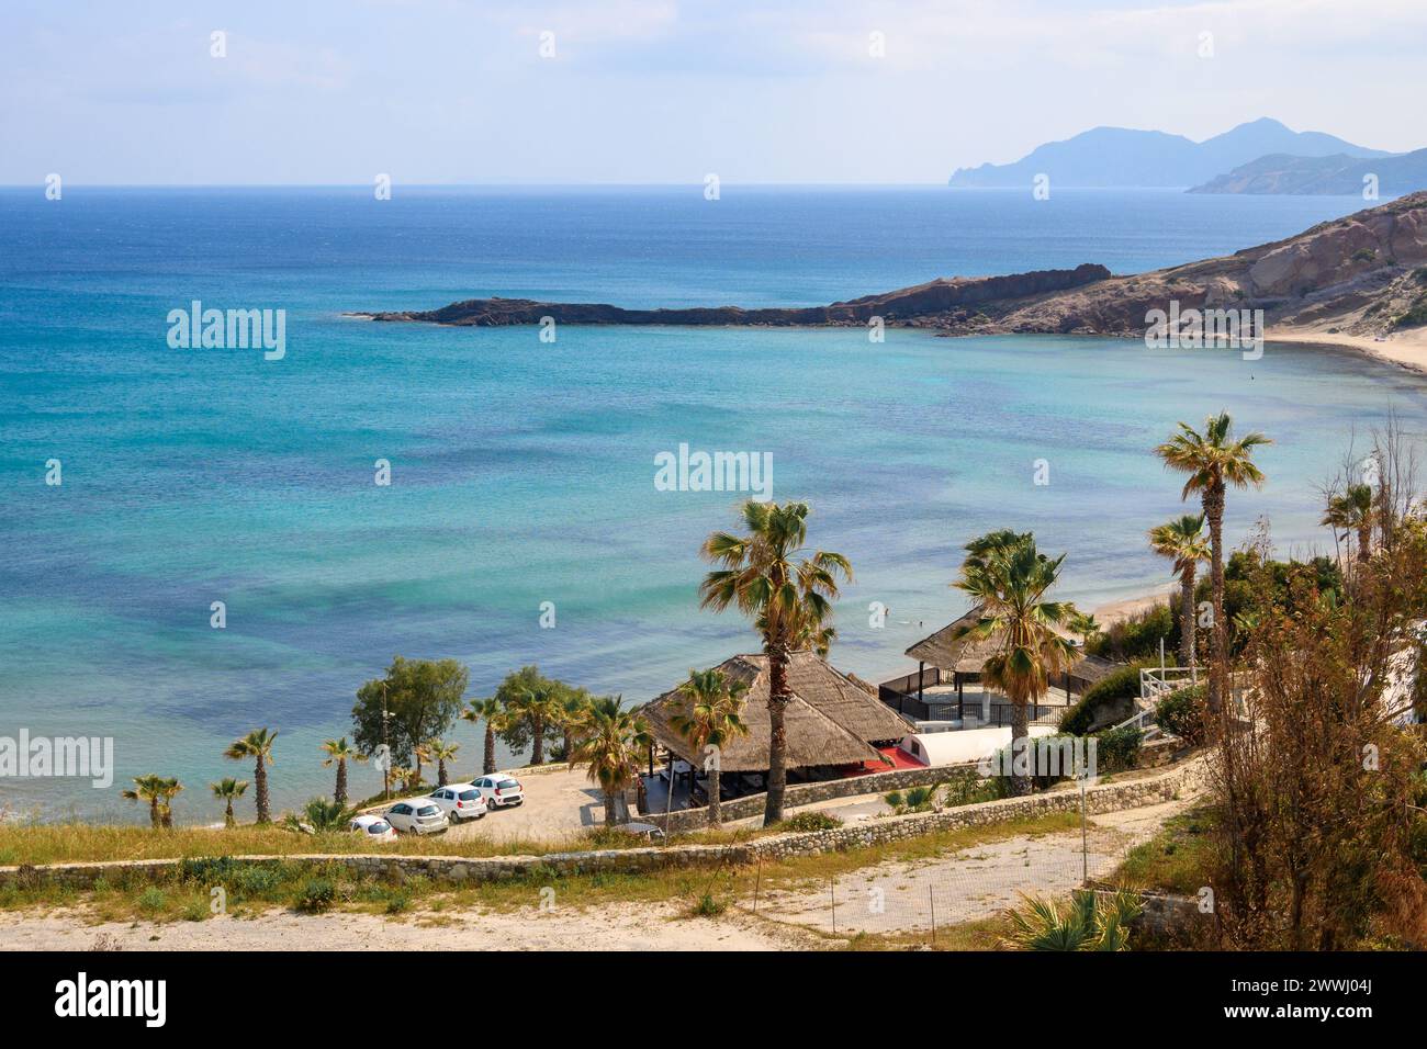
[[[1036,176],[1043,174],[1050,178],[1052,187],[1062,188],[1200,187],[1266,157],[1370,160],[1390,156],[1321,131],[1294,131],[1269,117],[1240,124],[1202,143],[1164,131],[1096,127],[1065,141],[1037,146],[1012,164],[959,168],[948,184],[953,188],[1029,187]],[[1351,191],[1361,188],[1359,181]],[[1427,188],[1427,184],[1411,187],[1420,188]]]

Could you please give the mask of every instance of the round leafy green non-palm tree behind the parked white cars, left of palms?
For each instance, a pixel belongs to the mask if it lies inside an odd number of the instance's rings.
[[[404,659],[394,657],[384,678],[357,689],[352,706],[352,742],[362,754],[381,744],[391,746],[394,765],[415,765],[417,746],[445,735],[461,715],[469,675],[455,659]],[[390,715],[385,736],[382,711]]]

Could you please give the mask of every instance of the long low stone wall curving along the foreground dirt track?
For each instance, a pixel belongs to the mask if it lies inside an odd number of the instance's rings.
[[[1172,801],[1182,792],[1199,789],[1203,776],[1202,769],[1203,761],[1196,759],[1156,776],[1093,786],[1086,791],[1086,811],[1093,815]],[[372,875],[394,881],[417,875],[452,883],[514,879],[535,881],[598,872],[639,873],[678,868],[748,865],[762,859],[809,856],[823,852],[842,852],[853,848],[885,845],[938,831],[1005,824],[1013,819],[1029,819],[1053,812],[1076,812],[1079,808],[1080,792],[1067,789],[1037,794],[1029,798],[1006,798],[977,805],[962,805],[943,812],[919,812],[905,816],[868,819],[832,831],[772,835],[735,845],[671,845],[664,848],[557,852],[545,856],[489,858],[400,856],[382,853],[234,856],[231,862],[267,863],[283,861],[287,863],[310,863],[314,868],[340,868],[354,875]],[[214,842],[221,843],[221,836],[215,836]],[[180,863],[181,861],[177,859],[141,859],[107,863],[0,866],[0,885],[68,885],[90,888],[100,881],[113,883],[121,878],[147,881],[166,876],[177,871]]]

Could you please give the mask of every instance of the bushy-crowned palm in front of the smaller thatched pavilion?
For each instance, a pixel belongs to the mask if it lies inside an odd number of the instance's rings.
[[[1009,537],[1005,541],[993,537]],[[1046,601],[1046,592],[1060,577],[1065,554],[1049,558],[1036,549],[1030,532],[993,532],[966,545],[962,575],[952,584],[972,595],[980,607],[980,617],[962,631],[975,641],[995,638],[995,651],[982,667],[982,681],[1012,702],[1010,754],[1015,758],[1017,739],[1029,735],[1027,704],[1036,704],[1049,688],[1052,674],[1065,671],[1075,661],[1075,648],[1057,628],[1065,627],[1075,607],[1063,601]],[[1026,794],[1029,776],[1012,765],[1012,794]]]

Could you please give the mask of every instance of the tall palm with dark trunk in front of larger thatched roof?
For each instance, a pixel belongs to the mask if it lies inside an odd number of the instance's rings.
[[[743,504],[746,535],[714,532],[701,554],[721,568],[699,584],[699,607],[722,612],[736,605],[763,637],[768,657],[768,804],[763,826],[783,818],[788,785],[788,731],[785,715],[792,702],[788,657],[808,638],[816,638],[832,615],[838,577],[852,579],[852,565],[842,554],[813,551],[805,557],[808,504]]]

